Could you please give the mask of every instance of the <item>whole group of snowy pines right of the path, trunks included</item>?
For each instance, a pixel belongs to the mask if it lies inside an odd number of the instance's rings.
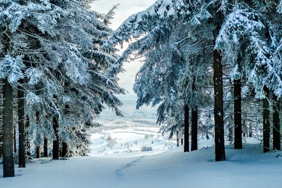
[[[133,86],[136,108],[160,103],[157,123],[184,138],[184,152],[190,135],[193,151],[199,135],[211,134],[215,160],[223,161],[225,135],[242,149],[244,134],[263,138],[265,153],[270,138],[274,150],[281,142],[281,13],[279,0],[158,0],[103,48],[136,39],[112,74],[128,58],[145,57]]]

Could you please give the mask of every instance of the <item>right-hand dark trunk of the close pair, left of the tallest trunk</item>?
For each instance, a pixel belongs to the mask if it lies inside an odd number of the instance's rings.
[[[198,107],[194,107],[191,117],[191,151],[198,149]]]

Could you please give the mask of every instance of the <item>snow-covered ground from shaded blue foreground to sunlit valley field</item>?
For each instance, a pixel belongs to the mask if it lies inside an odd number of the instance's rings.
[[[174,144],[168,150],[165,142],[175,143],[175,140],[168,141],[166,135],[158,138],[156,130],[123,128],[95,133],[92,135],[91,156],[60,161],[33,159],[27,168],[15,168],[16,177],[13,178],[2,178],[3,167],[0,165],[0,187],[276,188],[282,185],[282,157],[276,157],[282,156],[282,152],[263,154],[262,148],[254,144],[257,141],[252,138],[246,139],[247,143],[243,144],[244,149],[241,150],[226,145],[227,160],[214,162],[212,138],[200,138],[198,150],[183,153],[183,146],[175,147]],[[154,134],[154,137],[144,140],[144,134]],[[100,138],[103,135],[118,139],[113,149],[106,147],[106,155],[98,154],[107,142]],[[120,144],[133,143],[135,140],[138,144],[129,149],[140,150],[144,140],[144,145],[151,145],[153,151],[123,152],[127,148]]]

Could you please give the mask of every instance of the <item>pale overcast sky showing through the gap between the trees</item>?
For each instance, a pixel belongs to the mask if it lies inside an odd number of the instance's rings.
[[[114,19],[111,20],[110,27],[116,30],[124,20],[129,16],[138,12],[144,11],[149,8],[156,0],[99,0],[95,1],[92,5],[92,9],[99,13],[107,13],[114,5],[118,5],[118,8],[114,11],[116,14]],[[125,50],[124,48],[121,50]],[[121,54],[121,52],[119,54]],[[132,87],[135,81],[135,76],[140,67],[143,65],[139,60],[134,60],[130,63],[123,63],[123,68],[126,72],[118,74],[120,78],[119,85],[129,92],[130,95],[134,94]]]

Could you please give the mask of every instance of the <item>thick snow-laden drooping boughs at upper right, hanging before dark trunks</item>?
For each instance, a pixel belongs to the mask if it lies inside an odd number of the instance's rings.
[[[242,77],[240,62],[238,62],[239,46],[245,47],[246,68],[248,68],[249,82],[255,86],[256,97],[264,98],[263,87],[268,85],[274,89],[276,95],[281,95],[282,82],[278,61],[274,59],[273,50],[270,47],[277,46],[274,29],[268,25],[271,44],[264,41],[265,25],[259,20],[262,16],[245,3],[238,3],[226,17],[225,22],[217,36],[215,49],[222,50],[225,55],[232,54],[234,68],[231,79],[237,80]],[[239,63],[239,64],[238,64]]]

